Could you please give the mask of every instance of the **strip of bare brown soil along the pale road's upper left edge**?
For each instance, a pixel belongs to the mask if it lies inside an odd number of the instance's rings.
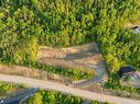
[[[42,79],[42,80],[52,80],[56,82],[65,81],[65,77],[62,77],[55,73],[49,73],[47,71],[44,71],[44,70],[35,70],[32,68],[26,68],[21,66],[0,65],[0,73],[17,74],[17,76],[23,76],[26,78],[34,78],[34,79]]]

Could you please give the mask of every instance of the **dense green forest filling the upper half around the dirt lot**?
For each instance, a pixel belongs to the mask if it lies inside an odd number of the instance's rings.
[[[0,0],[0,61],[35,61],[40,45],[68,47],[96,42],[107,69],[140,68],[140,0]]]

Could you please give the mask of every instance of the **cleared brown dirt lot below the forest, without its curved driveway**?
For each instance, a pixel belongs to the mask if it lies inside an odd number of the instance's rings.
[[[40,47],[37,60],[53,66],[90,67],[105,63],[95,43],[69,48]]]

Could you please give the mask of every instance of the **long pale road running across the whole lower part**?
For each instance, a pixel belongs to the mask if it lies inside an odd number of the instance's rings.
[[[85,91],[85,90],[79,90],[79,89],[75,89],[72,86],[66,86],[66,85],[51,82],[51,81],[42,81],[42,80],[18,77],[18,76],[6,76],[6,74],[0,73],[0,81],[24,83],[24,84],[29,84],[33,88],[40,88],[40,89],[45,89],[45,90],[55,90],[55,91],[60,91],[60,92],[63,92],[66,94],[72,94],[75,96],[85,97],[87,100],[96,100],[96,101],[100,101],[100,102],[110,102],[110,103],[115,103],[115,104],[140,104],[140,101],[137,101],[137,100],[98,94],[98,93],[94,93],[90,91]]]

